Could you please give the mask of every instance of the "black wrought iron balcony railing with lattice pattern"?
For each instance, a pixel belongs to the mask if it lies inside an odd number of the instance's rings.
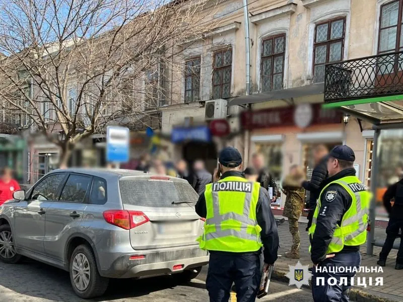
[[[403,51],[327,64],[325,102],[403,94]]]

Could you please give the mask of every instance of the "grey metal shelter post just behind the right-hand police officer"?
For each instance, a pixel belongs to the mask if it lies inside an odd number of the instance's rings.
[[[369,208],[369,220],[371,229],[367,236],[367,255],[372,256],[374,252],[375,242],[375,208],[376,208],[376,187],[378,176],[378,139],[380,129],[375,129],[374,147],[372,148],[372,164],[371,164],[371,192],[373,194],[371,205]]]

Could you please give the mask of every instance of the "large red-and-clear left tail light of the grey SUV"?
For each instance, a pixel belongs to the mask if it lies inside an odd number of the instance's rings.
[[[150,221],[141,211],[107,210],[103,216],[106,222],[123,229],[131,229]]]

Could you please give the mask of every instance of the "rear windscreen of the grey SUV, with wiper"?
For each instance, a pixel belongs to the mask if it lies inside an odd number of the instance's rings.
[[[120,195],[124,204],[147,207],[172,207],[172,202],[195,204],[197,193],[187,183],[153,179],[120,179]],[[191,204],[190,204],[191,205]],[[187,206],[186,203],[176,204]]]

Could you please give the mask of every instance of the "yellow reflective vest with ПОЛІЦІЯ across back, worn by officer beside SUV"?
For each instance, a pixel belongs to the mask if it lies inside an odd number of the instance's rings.
[[[222,252],[255,252],[261,247],[256,221],[259,183],[229,176],[206,186],[207,216],[200,249]]]

